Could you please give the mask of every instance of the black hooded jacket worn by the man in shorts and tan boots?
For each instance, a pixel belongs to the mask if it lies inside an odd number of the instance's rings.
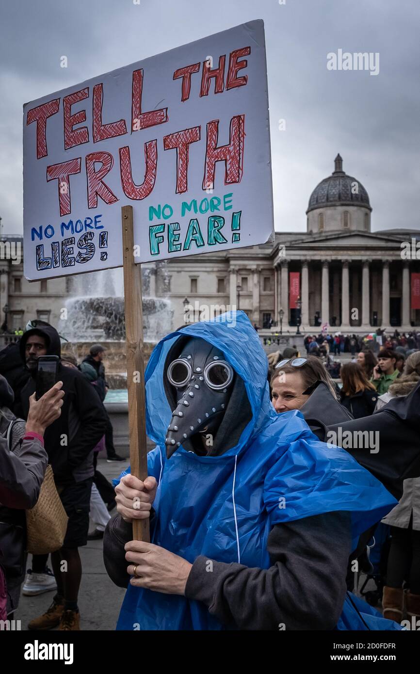
[[[47,340],[47,355],[61,356],[61,344],[57,330],[42,326],[28,330],[20,340],[20,356],[24,363],[26,341],[33,334]],[[49,426],[44,434],[44,446],[55,481],[69,485],[93,475],[93,449],[104,435],[107,417],[96,392],[82,373],[73,367],[59,364],[58,379],[63,382],[63,406],[59,419]],[[24,418],[28,416],[29,398],[36,388],[36,373],[30,377],[20,392]]]

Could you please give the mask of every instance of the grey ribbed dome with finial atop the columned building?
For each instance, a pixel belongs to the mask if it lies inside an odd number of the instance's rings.
[[[360,181],[342,170],[342,158],[337,154],[335,170],[324,178],[311,193],[307,213],[329,206],[361,206],[371,211],[369,195]]]

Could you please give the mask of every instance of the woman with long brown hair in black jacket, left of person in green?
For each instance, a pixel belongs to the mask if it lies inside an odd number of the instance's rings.
[[[354,419],[368,417],[378,400],[378,393],[367,379],[365,371],[357,363],[346,363],[340,370],[342,389],[341,404],[351,412]]]

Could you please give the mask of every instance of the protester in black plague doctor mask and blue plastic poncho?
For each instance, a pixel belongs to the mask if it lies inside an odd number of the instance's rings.
[[[395,499],[301,412],[276,414],[267,369],[243,312],[154,349],[149,477],[123,472],[104,537],[107,571],[127,587],[117,629],[398,628],[345,582],[357,537]],[[152,542],[131,541],[131,520],[149,516]]]

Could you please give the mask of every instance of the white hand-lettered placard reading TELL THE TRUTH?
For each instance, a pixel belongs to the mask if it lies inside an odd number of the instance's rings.
[[[24,273],[36,280],[265,243],[273,231],[264,24],[24,105]]]

